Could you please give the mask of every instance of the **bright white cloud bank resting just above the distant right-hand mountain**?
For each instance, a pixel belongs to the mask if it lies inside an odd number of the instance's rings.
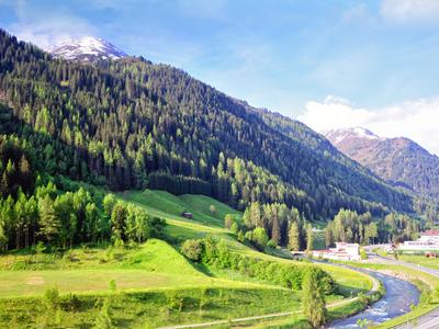
[[[382,137],[408,137],[439,155],[439,97],[383,109],[359,109],[344,99],[311,101],[297,117],[317,132],[364,127]]]

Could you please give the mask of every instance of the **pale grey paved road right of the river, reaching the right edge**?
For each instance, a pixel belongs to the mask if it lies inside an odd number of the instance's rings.
[[[385,245],[375,245],[375,246],[367,246],[364,247],[365,250],[368,250],[368,254],[371,259],[373,259],[373,262],[379,262],[379,263],[384,263],[384,264],[394,264],[394,265],[404,265],[406,268],[410,268],[417,271],[423,271],[425,273],[435,275],[439,277],[439,270],[434,270],[429,269],[426,266],[421,266],[419,264],[414,264],[414,263],[408,263],[404,262],[401,260],[395,260],[386,257],[379,256],[374,252],[372,252],[372,249],[375,248],[383,248]],[[405,324],[405,325],[399,325],[395,326],[393,328],[404,328],[404,329],[412,329],[412,328],[423,328],[423,329],[437,329],[439,328],[439,307],[432,309],[431,311],[425,314],[424,316],[420,316],[416,320],[416,325],[413,324]]]

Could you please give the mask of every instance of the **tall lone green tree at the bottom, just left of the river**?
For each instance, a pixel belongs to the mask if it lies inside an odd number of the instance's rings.
[[[302,311],[313,328],[325,325],[326,303],[314,269],[309,269],[302,282]]]

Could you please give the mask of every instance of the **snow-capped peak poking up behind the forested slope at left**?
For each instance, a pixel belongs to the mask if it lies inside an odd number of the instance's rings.
[[[127,55],[104,41],[92,36],[65,41],[49,49],[54,57],[80,61],[94,61],[98,59],[120,59]]]

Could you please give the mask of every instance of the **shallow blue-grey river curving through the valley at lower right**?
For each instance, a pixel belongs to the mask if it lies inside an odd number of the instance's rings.
[[[419,291],[412,283],[382,273],[364,272],[383,283],[385,295],[364,311],[337,320],[326,328],[360,328],[357,320],[364,318],[374,324],[381,324],[409,311],[410,305],[418,304]]]

